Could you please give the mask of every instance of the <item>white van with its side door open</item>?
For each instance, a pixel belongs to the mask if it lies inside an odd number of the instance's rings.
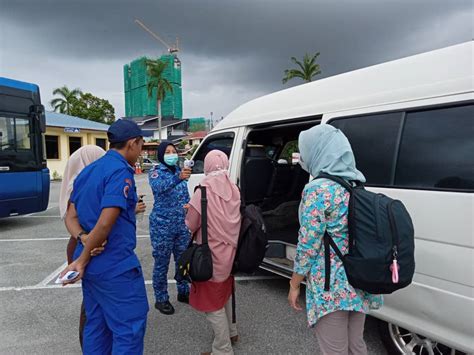
[[[272,243],[262,268],[289,276],[309,179],[292,153],[302,130],[334,125],[369,189],[402,200],[415,226],[413,284],[373,313],[389,352],[474,352],[473,53],[467,42],[250,101],[200,145],[190,191],[207,152],[225,152],[243,199],[264,211]]]

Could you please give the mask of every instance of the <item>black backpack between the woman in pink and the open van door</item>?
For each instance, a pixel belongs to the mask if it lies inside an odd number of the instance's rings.
[[[242,224],[232,273],[255,272],[268,248],[267,229],[262,210],[255,205],[242,206]]]

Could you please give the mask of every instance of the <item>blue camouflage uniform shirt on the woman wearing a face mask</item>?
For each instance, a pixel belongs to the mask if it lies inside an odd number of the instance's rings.
[[[160,164],[148,175],[155,198],[152,213],[166,222],[181,223],[186,217],[183,206],[189,203],[188,183],[179,178],[180,173],[179,167],[173,172]]]

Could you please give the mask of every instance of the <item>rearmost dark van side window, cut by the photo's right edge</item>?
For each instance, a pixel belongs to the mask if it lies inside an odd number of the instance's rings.
[[[395,185],[474,190],[474,105],[407,113]]]

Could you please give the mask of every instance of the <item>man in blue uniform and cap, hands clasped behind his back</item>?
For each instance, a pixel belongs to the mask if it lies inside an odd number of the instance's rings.
[[[143,146],[142,131],[128,120],[108,132],[110,150],[76,178],[68,229],[87,233],[75,261],[63,272],[78,271],[86,311],[84,354],[142,354],[148,300],[136,247],[137,193],[132,166]],[[78,223],[77,223],[78,222]],[[107,241],[102,254],[91,251]]]

